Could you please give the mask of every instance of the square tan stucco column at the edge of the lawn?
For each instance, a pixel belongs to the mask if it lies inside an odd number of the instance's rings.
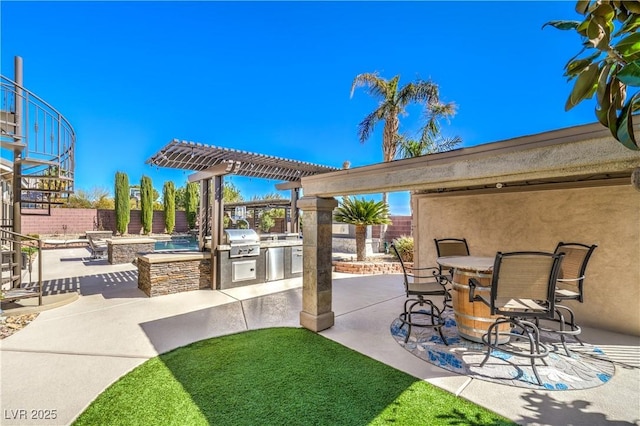
[[[331,310],[331,238],[333,198],[302,197],[298,200],[302,215],[302,311],[300,325],[322,331],[334,324]]]

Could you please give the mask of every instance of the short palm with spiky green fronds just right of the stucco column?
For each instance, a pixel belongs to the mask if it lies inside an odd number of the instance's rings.
[[[348,223],[356,227],[356,259],[363,261],[366,256],[365,242],[367,226],[389,225],[389,206],[384,201],[364,198],[343,197],[333,218],[336,222]]]

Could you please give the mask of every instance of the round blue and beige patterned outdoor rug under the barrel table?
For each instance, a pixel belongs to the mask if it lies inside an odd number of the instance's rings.
[[[567,346],[571,353],[569,357],[557,335],[546,332],[541,332],[541,341],[551,345],[553,349],[545,358],[547,365],[544,365],[541,360],[536,360],[536,369],[542,379],[542,386],[538,384],[528,358],[515,357],[494,350],[487,363],[480,367],[486,354],[486,347],[482,343],[458,336],[452,310],[447,309],[443,316],[445,325],[442,327],[442,334],[449,346],[444,344],[437,330],[415,326],[412,327],[409,341],[405,344],[408,326],[401,328],[402,322],[399,319],[391,323],[391,335],[406,350],[438,367],[476,379],[510,386],[540,390],[587,389],[607,383],[615,372],[614,364],[607,360],[604,352],[599,348],[586,342],[582,346],[568,336]],[[512,337],[507,344],[528,348],[528,340],[527,342],[524,340]]]

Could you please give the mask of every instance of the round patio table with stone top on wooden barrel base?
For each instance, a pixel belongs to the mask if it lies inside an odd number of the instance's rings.
[[[481,256],[445,256],[437,259],[440,266],[453,269],[451,297],[458,334],[478,343],[483,343],[482,336],[499,316],[491,315],[491,309],[483,302],[469,302],[469,278],[475,278],[480,283],[476,287],[476,294],[489,300],[494,259]],[[499,331],[509,332],[509,324],[501,325]],[[508,341],[509,337],[503,336],[498,343]]]

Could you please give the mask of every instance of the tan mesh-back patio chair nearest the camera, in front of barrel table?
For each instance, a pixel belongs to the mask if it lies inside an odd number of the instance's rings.
[[[553,318],[555,312],[555,288],[560,262],[564,254],[544,252],[511,252],[496,254],[491,279],[489,299],[484,295],[476,295],[475,289],[480,283],[475,278],[469,279],[469,301],[480,301],[491,310],[491,315],[499,315],[482,336],[487,346],[487,354],[480,363],[484,366],[493,350],[513,356],[526,357],[531,360],[533,373],[542,385],[535,360],[549,355],[549,348],[540,342],[540,330],[536,325],[538,319]],[[532,319],[534,321],[529,321]],[[526,335],[529,350],[515,345],[503,345],[498,342],[504,337],[515,337],[509,331],[500,331],[498,327],[508,323],[510,327],[520,329],[521,338]]]

